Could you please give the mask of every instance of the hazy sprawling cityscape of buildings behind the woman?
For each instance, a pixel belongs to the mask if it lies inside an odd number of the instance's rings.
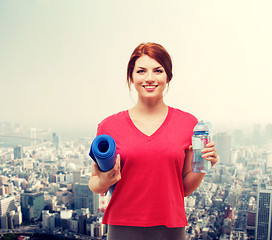
[[[106,239],[110,196],[88,187],[93,137],[0,122],[1,237]],[[185,198],[187,239],[271,239],[272,124],[215,129],[213,140],[219,163]]]

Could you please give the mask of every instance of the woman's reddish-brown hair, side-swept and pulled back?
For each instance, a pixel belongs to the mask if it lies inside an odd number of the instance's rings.
[[[127,66],[127,83],[130,87],[132,73],[135,67],[136,60],[143,56],[147,55],[153,59],[155,59],[159,64],[164,68],[168,81],[172,79],[172,60],[169,53],[165,50],[163,46],[157,43],[141,43],[138,47],[136,47],[130,57]]]

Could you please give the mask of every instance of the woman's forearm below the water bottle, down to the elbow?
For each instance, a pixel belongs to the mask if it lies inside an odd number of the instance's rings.
[[[189,172],[186,174],[186,176],[183,177],[183,188],[185,197],[189,196],[198,188],[204,176],[205,173]]]

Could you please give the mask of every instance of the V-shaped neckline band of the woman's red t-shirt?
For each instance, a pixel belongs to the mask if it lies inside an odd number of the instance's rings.
[[[129,110],[124,111],[125,114],[125,118],[127,119],[128,124],[130,125],[131,129],[138,134],[140,137],[144,138],[145,140],[151,142],[154,138],[156,138],[162,131],[163,129],[167,126],[171,116],[173,113],[173,108],[172,107],[168,107],[168,112],[167,115],[164,119],[164,121],[162,122],[162,124],[157,128],[157,130],[152,133],[150,136],[143,133],[139,128],[136,127],[136,125],[134,124],[134,122],[132,121],[130,115],[129,115]]]

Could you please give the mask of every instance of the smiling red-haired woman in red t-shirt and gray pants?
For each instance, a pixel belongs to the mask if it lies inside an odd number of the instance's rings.
[[[172,79],[172,62],[159,44],[140,44],[132,53],[127,81],[138,93],[136,105],[104,119],[97,135],[116,141],[116,164],[101,172],[94,163],[89,182],[94,193],[117,183],[104,215],[109,240],[185,239],[184,197],[205,174],[191,170],[191,138],[197,119],[163,100]],[[203,157],[217,162],[214,143]]]

